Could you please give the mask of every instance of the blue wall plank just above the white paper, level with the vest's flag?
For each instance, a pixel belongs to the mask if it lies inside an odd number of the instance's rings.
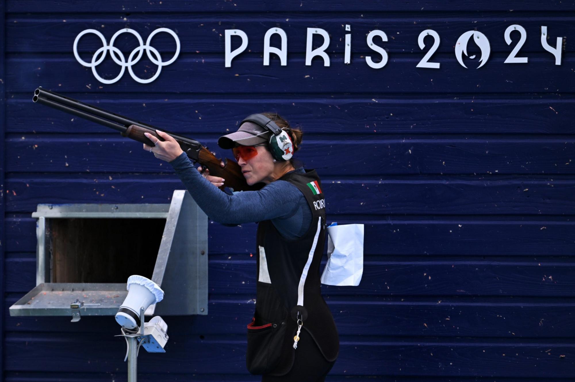
[[[141,157],[142,154],[135,154]],[[65,158],[64,158],[65,159]],[[162,163],[159,163],[162,164]],[[169,166],[169,164],[167,163]],[[323,175],[318,171],[320,177]],[[336,215],[574,215],[573,177],[402,176],[323,178],[329,219]],[[39,203],[169,203],[183,189],[175,175],[35,174],[6,177],[6,212]],[[542,203],[542,201],[545,201]],[[332,220],[333,221],[333,220]]]

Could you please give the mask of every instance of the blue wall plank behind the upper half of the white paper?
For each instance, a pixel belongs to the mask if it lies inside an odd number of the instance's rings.
[[[336,220],[339,224],[364,224],[366,259],[371,255],[413,254],[427,259],[441,255],[575,256],[575,221],[569,217],[393,216],[367,220],[329,216],[328,219],[330,223]],[[239,227],[209,224],[209,254],[250,254],[255,248],[256,227],[255,223]],[[36,258],[36,219],[10,217],[5,220],[5,228],[6,253],[10,257]]]

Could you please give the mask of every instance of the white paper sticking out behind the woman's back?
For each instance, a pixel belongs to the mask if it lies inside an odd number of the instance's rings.
[[[358,286],[363,274],[363,224],[332,223],[327,227],[327,264],[321,283]]]

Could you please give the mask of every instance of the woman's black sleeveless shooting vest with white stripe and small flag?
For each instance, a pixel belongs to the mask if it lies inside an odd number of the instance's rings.
[[[297,323],[292,309],[296,305],[304,306],[307,313],[301,330],[308,331],[325,359],[333,361],[339,354],[338,330],[320,291],[320,261],[325,243],[325,199],[320,179],[316,170],[305,170],[305,174],[290,172],[279,180],[290,182],[304,194],[312,212],[312,223],[304,236],[296,240],[285,239],[270,220],[258,224],[257,298],[252,325],[275,322],[287,325],[281,361],[274,375],[287,373],[293,365]]]

